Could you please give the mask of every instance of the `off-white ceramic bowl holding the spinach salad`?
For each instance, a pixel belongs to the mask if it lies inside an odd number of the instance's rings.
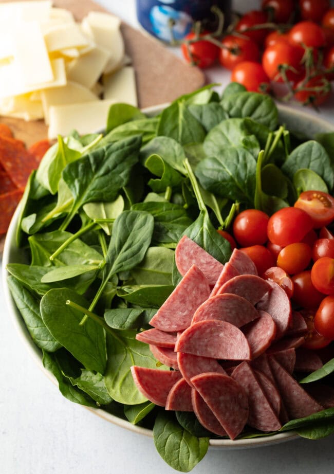
[[[157,114],[159,113],[166,105],[163,104],[158,107],[150,107],[149,109],[144,110],[143,112],[148,114]],[[284,123],[287,126],[287,129],[290,131],[295,131],[298,133],[305,134],[308,138],[312,138],[315,134],[321,132],[334,132],[334,123],[329,123],[319,117],[315,117],[313,115],[307,114],[307,112],[301,110],[294,110],[289,106],[280,105],[279,106],[279,113],[280,113],[280,122]],[[20,214],[20,206],[16,209],[14,216],[12,218],[11,224],[9,226],[4,252],[3,252],[3,263],[2,263],[2,272],[3,272],[3,281],[4,281],[4,291],[5,291],[5,298],[8,306],[8,314],[12,319],[15,327],[17,329],[18,334],[20,335],[22,342],[25,344],[28,352],[38,364],[40,369],[44,372],[44,374],[54,383],[58,384],[55,377],[48,372],[42,363],[42,352],[40,349],[34,344],[32,341],[30,334],[27,330],[27,327],[22,319],[20,312],[11,297],[8,285],[7,285],[7,271],[6,265],[8,263],[22,263],[24,262],[23,252],[16,247],[15,244],[15,232],[17,227],[17,221]],[[61,395],[60,395],[61,396]],[[104,418],[111,423],[114,423],[118,426],[126,428],[128,430],[144,434],[146,436],[153,436],[153,432],[150,429],[142,428],[136,425],[132,425],[131,423],[118,418],[115,415],[107,413],[106,411],[99,409],[99,408],[88,408],[88,410],[92,411],[98,416]],[[227,449],[240,449],[240,448],[247,448],[247,447],[257,447],[257,446],[265,446],[270,444],[282,443],[284,441],[292,440],[298,437],[293,431],[282,432],[279,434],[274,434],[270,436],[262,436],[258,438],[251,438],[245,440],[219,440],[219,439],[212,439],[210,440],[210,445],[213,447],[218,448],[227,448]]]

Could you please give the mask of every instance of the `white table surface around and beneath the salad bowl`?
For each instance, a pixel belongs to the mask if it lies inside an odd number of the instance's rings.
[[[134,1],[99,3],[137,26]],[[259,2],[236,2],[250,9]],[[210,81],[228,82],[219,68]],[[221,79],[220,79],[221,78]],[[334,121],[331,107],[323,116]],[[0,260],[1,263],[1,260]],[[112,425],[62,397],[35,365],[9,319],[0,272],[0,472],[3,474],[167,474],[153,440]],[[333,436],[243,450],[210,448],[194,474],[328,474]]]

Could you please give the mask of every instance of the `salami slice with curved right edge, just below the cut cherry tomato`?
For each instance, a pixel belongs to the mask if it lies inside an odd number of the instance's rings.
[[[276,339],[281,339],[286,333],[291,320],[292,310],[290,300],[284,289],[272,280],[267,280],[270,291],[257,303],[257,309],[269,313],[276,323]]]

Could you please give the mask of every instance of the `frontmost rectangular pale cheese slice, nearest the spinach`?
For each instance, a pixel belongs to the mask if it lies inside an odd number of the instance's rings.
[[[113,100],[97,100],[50,107],[49,139],[68,135],[73,129],[80,134],[104,129],[109,107],[113,103]]]

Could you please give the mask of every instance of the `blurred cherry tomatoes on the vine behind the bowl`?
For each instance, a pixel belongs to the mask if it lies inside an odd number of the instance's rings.
[[[334,8],[329,0],[263,0],[244,14],[220,43],[208,31],[191,33],[183,56],[199,67],[218,59],[247,90],[286,95],[320,105],[334,79]],[[196,41],[197,40],[197,41]],[[277,87],[285,83],[286,87]]]

